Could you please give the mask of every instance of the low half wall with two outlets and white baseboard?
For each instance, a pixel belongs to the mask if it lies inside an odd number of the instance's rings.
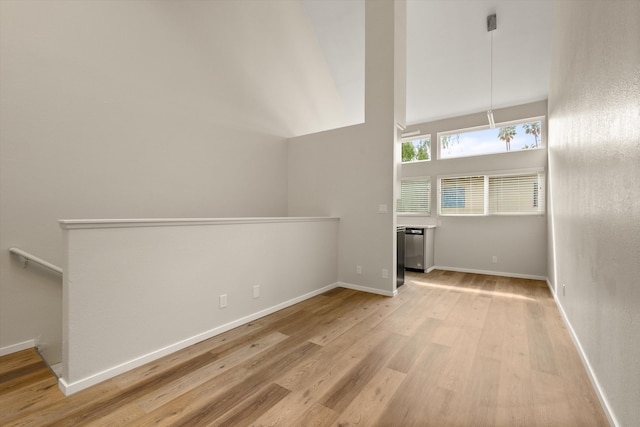
[[[338,219],[62,227],[66,393],[317,295],[338,278]]]

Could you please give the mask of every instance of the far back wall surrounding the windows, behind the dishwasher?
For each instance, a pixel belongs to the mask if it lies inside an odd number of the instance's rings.
[[[496,122],[546,116],[546,101],[494,110]],[[542,143],[546,139],[543,123]],[[447,174],[483,173],[526,168],[546,168],[547,152],[517,151],[476,157],[439,160],[437,133],[487,125],[487,114],[438,120],[409,126],[431,135],[431,161],[403,163],[402,177],[431,177],[431,216],[399,216],[398,224],[437,225],[435,264],[442,268],[544,278],[547,275],[547,222],[541,216],[438,216],[437,177]],[[492,257],[498,257],[498,263]]]

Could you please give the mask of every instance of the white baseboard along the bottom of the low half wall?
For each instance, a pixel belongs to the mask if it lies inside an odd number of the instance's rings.
[[[302,302],[304,300],[307,300],[309,298],[312,298],[316,295],[320,295],[324,292],[327,292],[331,289],[337,288],[340,284],[339,283],[332,283],[331,285],[327,285],[323,288],[320,289],[316,289],[315,291],[306,293],[304,295],[301,295],[299,297],[290,299],[288,301],[282,302],[280,304],[276,304],[272,307],[266,308],[264,310],[260,310],[256,313],[252,313],[248,316],[242,317],[240,319],[234,320],[232,322],[226,323],[224,325],[215,327],[213,329],[210,329],[206,332],[203,332],[201,334],[198,335],[194,335],[190,338],[187,338],[185,340],[179,341],[177,343],[171,344],[167,347],[161,348],[159,350],[153,351],[151,353],[147,353],[144,356],[138,357],[136,359],[130,360],[128,362],[122,363],[120,365],[114,366],[112,368],[106,369],[102,372],[99,372],[97,374],[94,374],[90,377],[81,379],[79,381],[75,381],[73,383],[68,383],[64,378],[60,378],[58,379],[58,387],[60,388],[60,390],[65,394],[65,396],[68,396],[70,394],[76,393],[80,390],[84,390],[88,387],[91,387],[93,385],[96,385],[98,383],[101,383],[102,381],[108,380],[110,378],[115,377],[116,375],[120,375],[122,373],[125,373],[127,371],[130,371],[134,368],[137,368],[139,366],[142,366],[146,363],[152,362],[154,360],[157,360],[161,357],[164,357],[168,354],[174,353],[178,350],[182,350],[183,348],[189,347],[190,345],[193,344],[197,344],[200,341],[204,341],[206,339],[209,339],[211,337],[214,337],[216,335],[219,335],[223,332],[227,332],[233,328],[237,328],[240,325],[244,325],[245,323],[251,322],[253,320],[259,319],[261,317],[264,317],[268,314],[271,313],[275,313],[276,311],[282,310],[283,308],[287,308],[291,305],[297,304],[299,302]]]

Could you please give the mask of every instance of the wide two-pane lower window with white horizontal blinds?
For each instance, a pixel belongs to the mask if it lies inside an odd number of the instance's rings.
[[[542,215],[544,173],[439,179],[440,215]]]

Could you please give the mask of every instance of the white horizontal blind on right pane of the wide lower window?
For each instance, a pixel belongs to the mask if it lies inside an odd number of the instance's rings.
[[[542,174],[489,177],[489,214],[543,212],[544,176]]]

